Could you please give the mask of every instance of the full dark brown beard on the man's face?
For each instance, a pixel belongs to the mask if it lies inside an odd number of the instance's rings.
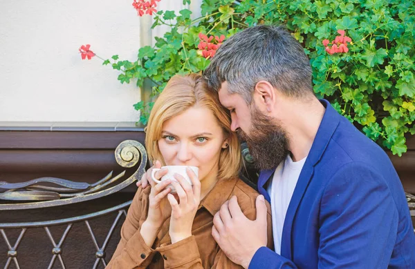
[[[286,132],[275,119],[262,114],[256,107],[251,112],[250,135],[237,129],[239,139],[246,141],[259,170],[275,169],[288,155]]]

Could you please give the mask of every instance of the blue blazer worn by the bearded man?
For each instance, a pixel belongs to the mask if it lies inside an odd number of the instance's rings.
[[[374,141],[326,112],[286,212],[281,255],[259,248],[249,268],[415,268],[415,235],[394,166]],[[274,170],[261,171],[258,189]]]

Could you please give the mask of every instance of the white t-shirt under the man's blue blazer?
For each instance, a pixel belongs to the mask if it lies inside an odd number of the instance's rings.
[[[267,188],[271,199],[271,212],[273,215],[273,234],[275,252],[281,254],[282,228],[284,219],[290,204],[299,173],[301,172],[307,157],[300,161],[293,161],[288,154],[285,161],[275,169],[273,180]]]

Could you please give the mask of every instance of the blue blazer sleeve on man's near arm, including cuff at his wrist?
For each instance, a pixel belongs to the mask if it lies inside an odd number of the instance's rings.
[[[317,197],[316,197],[317,199]],[[318,268],[387,268],[398,211],[385,179],[363,163],[347,163],[324,188],[319,216]],[[249,268],[297,268],[259,248]]]

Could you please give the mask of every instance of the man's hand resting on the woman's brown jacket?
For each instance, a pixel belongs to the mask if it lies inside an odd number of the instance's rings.
[[[243,268],[248,268],[255,252],[267,243],[267,210],[264,197],[256,201],[257,218],[248,219],[233,196],[223,203],[214,215],[212,236],[228,258]]]

